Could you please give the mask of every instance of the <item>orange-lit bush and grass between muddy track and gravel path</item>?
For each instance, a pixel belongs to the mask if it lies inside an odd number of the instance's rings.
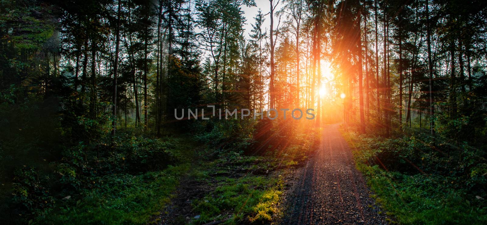
[[[213,131],[198,136],[213,151],[208,155],[216,159],[206,161],[191,175],[210,187],[203,198],[192,202],[198,217],[191,224],[272,221],[281,213],[278,205],[286,169],[303,164],[319,144],[319,129],[303,123],[248,122],[252,126],[227,121],[232,124],[215,126]],[[233,135],[225,136],[228,132]],[[219,141],[215,141],[217,137]]]

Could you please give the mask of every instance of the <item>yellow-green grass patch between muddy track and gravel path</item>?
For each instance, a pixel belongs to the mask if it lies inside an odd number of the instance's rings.
[[[211,193],[193,203],[201,217],[195,224],[222,220],[226,224],[269,222],[279,213],[277,204],[282,194],[280,176],[245,175],[240,178],[218,177],[219,183]]]

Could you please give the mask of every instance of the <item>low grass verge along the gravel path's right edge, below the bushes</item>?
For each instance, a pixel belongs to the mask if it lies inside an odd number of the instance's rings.
[[[356,167],[367,177],[373,196],[399,224],[486,224],[487,210],[466,200],[465,192],[451,188],[449,177],[403,174],[368,165],[374,149],[353,133],[343,133],[353,147]]]

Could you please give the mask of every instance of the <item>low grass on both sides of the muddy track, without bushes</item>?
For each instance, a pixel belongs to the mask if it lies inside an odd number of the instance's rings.
[[[175,166],[95,176],[96,185],[92,188],[80,189],[70,199],[57,200],[56,207],[37,213],[29,224],[158,223],[157,215],[164,212],[171,198],[176,197],[172,201],[179,201],[175,193],[183,177],[202,183],[204,188],[196,187],[195,190],[202,194],[198,197],[187,196],[192,199],[191,214],[199,217],[187,219],[183,213],[171,215],[176,221],[190,224],[216,220],[225,224],[269,223],[281,215],[278,205],[284,187],[282,177],[287,171],[283,168],[298,166],[299,161],[306,160],[307,152],[313,149],[313,141],[313,138],[301,139],[300,143],[265,156],[244,156],[242,152],[229,151],[212,161],[203,157],[206,151],[194,151],[197,143],[176,141],[173,153],[182,160]],[[140,143],[139,148],[153,149],[145,142]],[[197,154],[203,155],[198,157]]]

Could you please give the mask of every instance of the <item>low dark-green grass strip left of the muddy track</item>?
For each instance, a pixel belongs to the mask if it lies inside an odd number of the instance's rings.
[[[101,180],[112,188],[84,193],[73,207],[44,212],[43,224],[147,224],[169,202],[187,164],[140,175],[117,174]],[[68,199],[65,201],[75,201]],[[53,216],[53,213],[56,216]]]

